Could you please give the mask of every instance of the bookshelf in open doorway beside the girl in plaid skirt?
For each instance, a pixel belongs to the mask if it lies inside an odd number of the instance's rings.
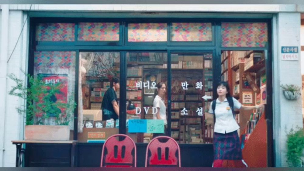
[[[225,54],[228,55],[225,57]],[[222,59],[230,61],[228,83],[232,96],[240,103],[248,106],[266,104],[266,97],[262,97],[266,89],[265,59],[263,51],[224,51]],[[223,61],[222,61],[223,63]],[[223,75],[223,74],[222,74]],[[231,80],[229,79],[231,76]],[[223,76],[222,76],[223,79]],[[264,93],[266,94],[266,93]],[[243,156],[249,161],[249,166],[266,167],[264,156],[267,154],[265,112],[236,111],[236,121],[240,125],[240,140],[243,138]],[[245,136],[248,138],[244,141]],[[259,139],[261,140],[259,142]],[[260,144],[261,150],[259,149]],[[249,157],[254,154],[257,157]],[[264,156],[263,156],[264,155]],[[263,156],[263,157],[262,157]],[[250,159],[251,158],[251,159]],[[263,159],[259,162],[257,159]]]

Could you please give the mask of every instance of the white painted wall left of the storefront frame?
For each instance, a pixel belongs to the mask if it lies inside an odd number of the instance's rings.
[[[23,22],[24,22],[24,14],[22,11],[9,11],[9,24],[8,24],[8,30],[6,33],[8,35],[8,42],[7,44],[7,50],[5,54],[2,54],[3,60],[1,60],[1,66],[6,66],[6,72],[5,75],[2,75],[0,87],[3,91],[3,93],[6,94],[6,97],[2,99],[4,101],[3,108],[5,109],[4,112],[0,115],[4,118],[4,152],[3,152],[3,160],[0,161],[1,166],[4,167],[12,167],[15,166],[16,162],[16,146],[12,145],[12,140],[19,140],[23,139],[23,123],[24,119],[23,116],[19,115],[17,113],[16,107],[23,104],[23,101],[20,101],[18,97],[10,96],[8,94],[8,91],[14,85],[13,81],[8,79],[6,75],[9,75],[11,73],[15,74],[17,77],[24,79],[24,74],[21,72],[21,68],[25,69],[25,63],[26,63],[26,53],[28,49],[26,46],[26,43],[23,41],[23,33],[20,36],[20,39],[17,43],[17,39],[20,35],[20,32],[22,30]],[[27,25],[26,25],[27,26]],[[27,37],[27,28],[24,32],[25,38]],[[3,34],[2,34],[3,36]],[[2,42],[3,43],[3,42]],[[16,44],[17,43],[17,44]],[[16,45],[16,48],[14,52],[12,53],[14,47]],[[3,47],[3,46],[2,46]],[[7,63],[7,60],[9,59],[9,56],[11,56],[9,62]],[[4,116],[3,116],[4,115]],[[0,142],[0,143],[1,143]],[[0,156],[1,158],[1,156]]]

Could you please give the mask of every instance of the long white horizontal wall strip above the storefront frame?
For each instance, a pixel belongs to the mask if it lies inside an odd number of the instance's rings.
[[[10,5],[12,10],[29,10],[29,5]],[[116,12],[136,12],[136,11],[149,11],[149,12],[304,12],[304,5],[292,4],[292,5],[243,5],[243,4],[161,4],[161,5],[33,5],[32,10],[45,10],[45,11],[116,11]]]

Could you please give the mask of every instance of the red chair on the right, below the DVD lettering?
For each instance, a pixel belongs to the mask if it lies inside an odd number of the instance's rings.
[[[160,139],[167,141],[160,142]],[[178,156],[175,155],[176,152]],[[147,146],[145,167],[153,166],[181,167],[181,150],[174,139],[168,136],[158,136],[151,140]]]

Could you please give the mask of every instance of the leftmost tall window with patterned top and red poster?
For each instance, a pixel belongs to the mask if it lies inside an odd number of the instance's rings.
[[[36,103],[34,101],[38,109],[33,118],[34,125],[69,125],[73,130],[74,110],[60,107],[56,102],[74,101],[75,57],[76,52],[71,51],[36,51],[34,53],[34,78],[39,78],[47,84],[62,83],[59,90],[48,87],[47,94],[38,95],[40,101]],[[43,104],[47,100],[54,103]]]

